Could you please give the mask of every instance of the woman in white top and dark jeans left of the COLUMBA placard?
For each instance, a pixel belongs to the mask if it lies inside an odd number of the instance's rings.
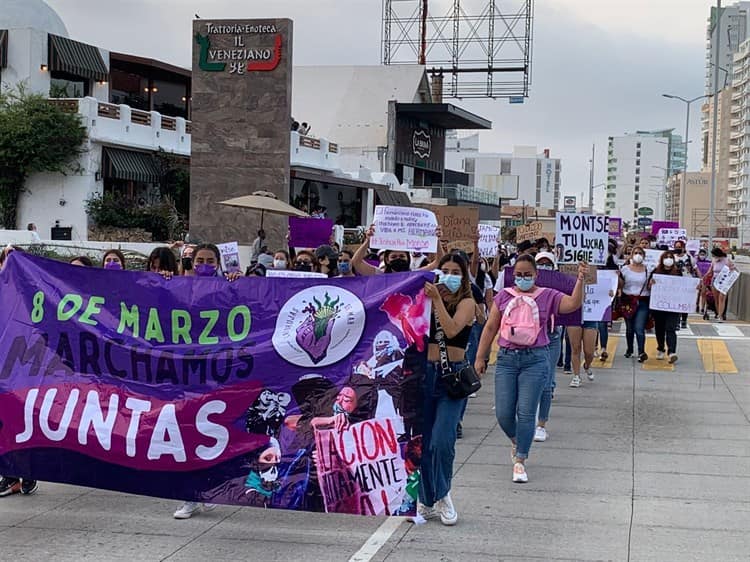
[[[649,300],[651,291],[648,287],[648,271],[643,264],[646,253],[643,248],[633,248],[630,262],[620,270],[618,297],[621,302],[627,301],[632,311],[630,317],[625,316],[625,339],[627,350],[625,357],[633,356],[633,338],[638,344],[638,361],[643,363],[648,359],[646,354],[646,323],[648,322]]]

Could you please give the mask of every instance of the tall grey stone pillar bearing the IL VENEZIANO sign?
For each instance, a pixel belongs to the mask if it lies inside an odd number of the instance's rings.
[[[292,21],[193,22],[190,234],[250,244],[260,213],[219,201],[265,190],[289,202]],[[272,251],[287,218],[266,214]]]

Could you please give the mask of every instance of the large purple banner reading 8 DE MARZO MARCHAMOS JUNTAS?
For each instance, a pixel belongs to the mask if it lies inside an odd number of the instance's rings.
[[[165,280],[14,252],[0,273],[0,473],[413,514],[431,278]],[[320,430],[350,470],[337,493],[358,501],[327,504]],[[376,476],[376,458],[390,481],[365,499],[355,472]]]

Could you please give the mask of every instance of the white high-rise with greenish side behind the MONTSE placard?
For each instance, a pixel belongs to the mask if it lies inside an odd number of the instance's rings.
[[[609,137],[607,214],[629,222],[638,216],[640,207],[650,207],[654,218],[665,217],[667,178],[685,169],[685,144],[673,131],[636,131]]]

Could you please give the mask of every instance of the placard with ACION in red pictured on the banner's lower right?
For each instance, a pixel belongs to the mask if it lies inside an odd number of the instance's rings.
[[[318,483],[326,512],[398,512],[409,474],[394,426],[390,419],[373,419],[342,431],[316,430]]]

